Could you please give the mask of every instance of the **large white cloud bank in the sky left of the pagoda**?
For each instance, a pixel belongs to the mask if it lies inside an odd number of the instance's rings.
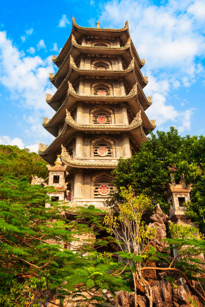
[[[26,57],[0,31],[0,85],[10,91],[12,101],[25,110],[22,118],[25,137],[33,143],[49,143],[53,137],[42,127],[42,117],[52,117],[54,111],[45,101],[46,93],[56,89],[49,81],[49,72],[54,72],[51,57]]]

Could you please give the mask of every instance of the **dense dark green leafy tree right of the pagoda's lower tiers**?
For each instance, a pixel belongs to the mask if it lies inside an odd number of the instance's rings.
[[[151,133],[139,152],[129,159],[120,159],[113,172],[114,184],[118,190],[132,186],[137,195],[150,197],[168,213],[164,192],[170,183],[168,167],[173,166],[178,170],[175,178],[183,173],[186,184],[192,184],[186,214],[205,233],[205,136],[182,137],[174,127],[168,132]]]

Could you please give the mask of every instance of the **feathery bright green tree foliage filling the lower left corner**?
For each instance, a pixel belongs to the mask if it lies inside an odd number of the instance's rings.
[[[82,234],[95,235],[102,212],[79,208],[75,220],[69,220],[64,214],[69,208],[51,202],[46,194],[52,189],[31,186],[25,177],[0,181],[0,306],[46,306],[49,301],[60,305],[57,296],[84,299],[86,305],[93,299],[108,299],[102,289],[108,288],[113,295],[119,288],[129,289],[121,276],[108,273],[118,264],[95,251],[97,242],[72,245]],[[99,246],[105,244],[99,241]]]

